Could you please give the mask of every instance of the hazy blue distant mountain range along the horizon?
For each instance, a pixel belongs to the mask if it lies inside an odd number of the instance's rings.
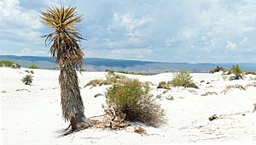
[[[54,69],[57,67],[55,59],[49,57],[38,56],[15,56],[15,55],[0,55],[0,60],[12,60],[26,67],[30,64],[37,64],[42,69]],[[84,68],[86,71],[104,71],[112,69],[115,71],[132,71],[142,72],[147,74],[157,74],[166,71],[189,70],[190,72],[208,72],[215,66],[230,68],[235,63],[164,63],[164,62],[150,62],[137,60],[122,60],[122,59],[84,59]],[[243,70],[256,70],[254,63],[238,63]]]

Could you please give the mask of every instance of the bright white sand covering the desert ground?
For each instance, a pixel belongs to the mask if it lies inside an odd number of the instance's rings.
[[[251,142],[256,144],[256,86],[251,77],[225,81],[221,73],[191,74],[200,89],[172,87],[156,89],[160,81],[172,80],[173,73],[159,75],[126,75],[153,83],[150,93],[166,111],[168,122],[160,128],[142,126],[147,135],[124,131],[88,129],[66,137],[58,137],[67,127],[61,117],[58,70],[33,70],[31,86],[20,79],[26,68],[0,68],[2,135],[4,145],[30,144],[172,144],[205,142]],[[86,117],[103,114],[104,93],[108,86],[84,87],[92,79],[105,78],[105,72],[82,72],[79,85]],[[241,86],[237,86],[241,85]],[[97,93],[102,96],[95,98]],[[170,98],[173,98],[170,99]],[[218,118],[208,120],[213,114]],[[135,123],[136,124],[136,123]],[[239,144],[241,144],[239,143]]]

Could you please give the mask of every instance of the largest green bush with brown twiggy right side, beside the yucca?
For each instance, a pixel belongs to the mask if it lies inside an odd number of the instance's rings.
[[[158,127],[165,123],[164,110],[148,93],[149,86],[126,79],[113,84],[106,92],[108,108],[125,114],[125,120]]]

